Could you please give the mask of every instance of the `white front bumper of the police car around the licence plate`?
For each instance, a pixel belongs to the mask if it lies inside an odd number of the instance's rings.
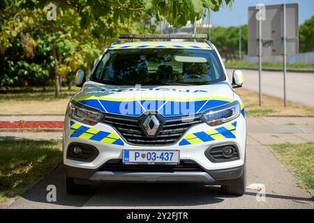
[[[71,125],[73,122],[78,125],[84,125],[87,130],[84,137],[73,137],[73,129]],[[73,121],[66,115],[63,130],[63,163],[66,167],[66,175],[72,178],[82,180],[93,180],[103,182],[198,182],[198,183],[215,183],[221,180],[231,180],[239,178],[243,174],[244,157],[246,150],[246,121],[244,116],[240,115],[230,123],[217,126],[217,128],[227,128],[231,123],[237,123],[237,130],[234,132],[235,137],[224,139],[216,138],[215,140],[206,140],[203,138],[189,138],[188,135],[204,131],[214,130],[209,125],[202,123],[190,128],[184,136],[174,145],[167,146],[136,146],[128,144],[110,125],[105,123],[98,123],[94,126],[89,126],[77,121]],[[71,124],[72,123],[72,124]],[[98,130],[109,133],[109,137],[104,137],[101,140],[92,140],[89,132]],[[197,134],[196,134],[197,135]],[[199,134],[202,136],[202,134]],[[119,139],[115,139],[119,137]],[[214,138],[214,137],[213,137]],[[68,159],[67,148],[71,143],[89,144],[98,150],[98,155],[91,162],[82,162],[79,160]],[[212,162],[204,155],[204,152],[212,147],[222,144],[233,144],[237,146],[239,152],[239,159],[229,162]],[[198,164],[204,171],[172,171],[172,172],[123,172],[123,171],[102,171],[100,168],[109,160],[122,159],[124,149],[145,149],[145,150],[174,150],[179,149],[180,160],[192,160]]]

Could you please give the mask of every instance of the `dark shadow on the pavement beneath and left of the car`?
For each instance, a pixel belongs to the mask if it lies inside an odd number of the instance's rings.
[[[57,202],[48,202],[47,185],[57,187]],[[246,192],[255,197],[255,192]],[[275,199],[313,201],[302,197],[266,194]],[[156,184],[156,183],[107,183],[95,194],[69,195],[63,179],[63,165],[59,165],[50,176],[33,187],[23,199],[15,201],[10,208],[80,208],[86,204],[91,208],[197,206],[223,202],[237,197],[220,194],[220,187],[200,184]],[[249,207],[248,207],[249,208]]]

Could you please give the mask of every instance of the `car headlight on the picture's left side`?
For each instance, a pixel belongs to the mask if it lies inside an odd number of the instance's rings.
[[[75,100],[71,100],[68,105],[68,115],[77,121],[89,125],[96,125],[103,118],[103,114],[98,109],[87,107],[75,102]]]

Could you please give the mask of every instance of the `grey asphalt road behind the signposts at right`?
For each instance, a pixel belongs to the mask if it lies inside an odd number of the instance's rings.
[[[233,70],[227,70],[232,75]],[[258,70],[243,70],[244,88],[258,91]],[[314,107],[314,72],[287,72],[287,100]],[[262,93],[283,98],[283,72],[262,71]]]

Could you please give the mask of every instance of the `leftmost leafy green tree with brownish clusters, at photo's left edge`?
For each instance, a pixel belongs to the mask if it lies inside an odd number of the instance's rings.
[[[0,86],[26,86],[35,79],[46,85],[54,64],[50,45],[43,40],[44,30],[35,24],[36,17],[29,17],[26,10],[6,11],[1,14],[0,23]]]

